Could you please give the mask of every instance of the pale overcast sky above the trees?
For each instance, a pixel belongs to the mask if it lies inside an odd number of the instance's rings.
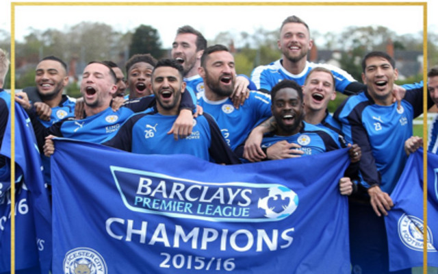
[[[38,1],[50,5],[30,5],[37,0],[27,0],[26,6],[16,6],[14,30],[16,39],[22,40],[29,33],[29,27],[34,29],[66,29],[81,21],[103,22],[121,32],[133,30],[138,25],[151,25],[158,30],[164,47],[170,47],[175,32],[181,25],[192,25],[211,40],[219,32],[229,31],[234,34],[255,29],[277,29],[284,18],[297,15],[306,21],[310,28],[324,34],[325,32],[342,32],[350,25],[368,26],[382,25],[394,30],[397,34],[417,34],[423,27],[423,8],[421,5],[355,5],[330,6],[296,5],[84,5],[86,1],[75,1],[77,5],[56,5],[54,1]],[[61,1],[56,1],[60,3]],[[73,2],[73,1],[71,1]],[[83,3],[81,3],[83,2]],[[96,2],[96,1],[94,1]],[[108,1],[101,1],[109,3]],[[118,1],[123,2],[123,1]],[[133,1],[129,1],[133,2]],[[301,1],[303,2],[303,1]],[[307,1],[306,1],[307,2]],[[329,1],[324,1],[329,2]],[[337,1],[340,2],[340,1]],[[369,3],[370,1],[368,1]],[[387,1],[394,2],[394,1]],[[397,1],[398,3],[402,1]],[[411,0],[406,3],[424,2]],[[438,10],[435,0],[428,0],[428,27],[437,29],[438,16],[433,16],[431,10]],[[10,11],[11,0],[0,0],[0,10]],[[203,1],[202,3],[206,3]],[[241,2],[242,3],[242,2]],[[252,3],[255,3],[254,1]],[[348,1],[348,3],[352,3]],[[435,7],[435,8],[434,8]],[[3,12],[2,12],[3,13]],[[10,32],[9,16],[0,18],[0,28]]]

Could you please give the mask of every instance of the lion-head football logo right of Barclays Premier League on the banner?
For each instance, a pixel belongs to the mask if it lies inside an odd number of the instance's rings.
[[[274,186],[268,196],[259,198],[257,206],[265,210],[266,218],[284,219],[298,207],[298,195],[285,186]]]

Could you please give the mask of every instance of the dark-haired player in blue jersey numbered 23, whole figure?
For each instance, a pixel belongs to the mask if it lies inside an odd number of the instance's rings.
[[[412,136],[413,119],[422,114],[424,98],[423,92],[407,90],[400,106],[393,103],[398,71],[387,53],[368,53],[362,69],[367,88],[346,99],[334,115],[346,139],[363,150],[359,162],[363,180],[349,200],[350,255],[353,271],[389,273],[383,216],[393,206],[389,195],[407,161],[404,141]],[[428,105],[432,100],[428,99]],[[411,273],[411,269],[394,273]]]

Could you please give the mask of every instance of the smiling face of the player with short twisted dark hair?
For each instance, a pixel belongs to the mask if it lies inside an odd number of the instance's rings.
[[[294,88],[281,88],[272,98],[272,115],[278,125],[276,134],[290,136],[300,131],[302,122],[303,104]]]

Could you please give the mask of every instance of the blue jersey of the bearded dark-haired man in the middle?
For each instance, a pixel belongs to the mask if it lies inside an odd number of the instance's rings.
[[[242,144],[255,126],[272,116],[271,99],[262,92],[251,91],[244,105],[237,110],[233,101],[210,101],[205,93],[198,94],[198,105],[214,117],[231,149]]]

